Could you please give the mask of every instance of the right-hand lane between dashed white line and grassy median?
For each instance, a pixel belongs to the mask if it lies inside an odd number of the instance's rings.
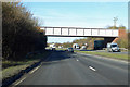
[[[79,61],[84,65],[94,66],[100,75],[115,84],[128,84],[128,63],[104,59],[92,55],[80,57]]]

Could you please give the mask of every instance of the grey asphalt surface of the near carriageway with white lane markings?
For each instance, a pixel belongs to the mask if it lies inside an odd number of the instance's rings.
[[[54,51],[14,85],[127,85],[128,63],[103,57]]]

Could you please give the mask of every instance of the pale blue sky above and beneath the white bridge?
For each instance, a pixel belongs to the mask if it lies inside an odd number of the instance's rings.
[[[128,28],[128,2],[24,2],[41,26],[106,28],[114,25]],[[48,37],[48,42],[72,42],[82,37]]]

